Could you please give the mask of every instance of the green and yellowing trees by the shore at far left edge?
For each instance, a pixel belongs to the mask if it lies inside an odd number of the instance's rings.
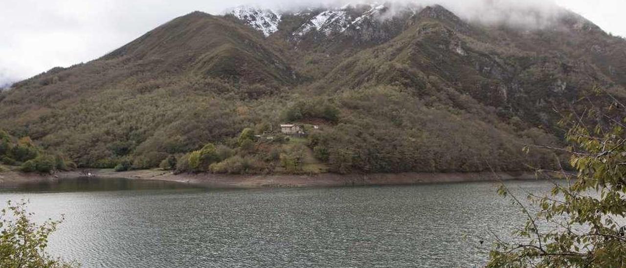
[[[74,162],[59,153],[44,152],[29,137],[15,138],[0,130],[0,164],[19,166],[23,172],[50,173],[71,170]],[[0,171],[2,166],[0,165]]]

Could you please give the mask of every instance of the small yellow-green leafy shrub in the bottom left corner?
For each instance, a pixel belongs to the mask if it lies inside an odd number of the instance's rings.
[[[72,268],[78,264],[50,257],[44,251],[49,235],[61,220],[48,220],[41,225],[31,222],[26,202],[8,202],[0,210],[0,267],[4,268]]]

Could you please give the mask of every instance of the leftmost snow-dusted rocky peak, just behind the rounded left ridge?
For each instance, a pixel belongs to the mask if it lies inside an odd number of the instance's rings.
[[[278,31],[281,14],[270,9],[253,8],[250,6],[238,6],[226,11],[238,19],[244,21],[250,27],[261,31],[265,36]]]

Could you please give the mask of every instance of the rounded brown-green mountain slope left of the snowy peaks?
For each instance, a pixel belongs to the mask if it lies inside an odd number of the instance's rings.
[[[187,131],[202,118],[187,116],[220,115],[234,108],[215,100],[213,93],[254,97],[274,93],[293,79],[289,66],[253,30],[191,13],[103,58],[17,83],[0,97],[0,113],[7,115],[0,125],[59,148],[82,165],[107,166],[107,159],[115,157],[110,143],[134,149],[178,121],[187,121],[186,126],[172,135],[182,135],[185,142],[172,152],[190,150],[199,140],[234,135],[240,131],[236,118],[202,122],[203,127],[215,126],[210,131]]]

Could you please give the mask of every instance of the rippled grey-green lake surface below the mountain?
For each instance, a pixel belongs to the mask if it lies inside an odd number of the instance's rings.
[[[488,182],[210,190],[92,178],[0,192],[21,198],[38,221],[65,215],[48,252],[83,267],[482,267],[491,232],[524,220]]]

